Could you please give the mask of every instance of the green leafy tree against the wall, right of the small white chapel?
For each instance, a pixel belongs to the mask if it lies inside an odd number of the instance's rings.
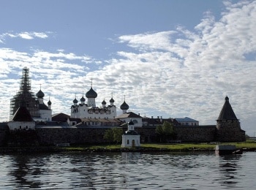
[[[162,125],[157,126],[156,133],[159,135],[160,142],[175,139],[176,132],[172,123],[165,121]]]

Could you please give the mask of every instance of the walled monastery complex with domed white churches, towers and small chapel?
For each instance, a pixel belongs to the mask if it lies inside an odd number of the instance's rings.
[[[214,126],[200,126],[199,121],[187,117],[142,117],[140,114],[128,112],[129,105],[125,99],[120,105],[122,114],[117,115],[113,97],[108,104],[103,99],[102,104],[97,106],[97,92],[92,84],[80,101],[75,95],[70,105],[70,115],[53,115],[52,102],[49,98],[45,104],[44,97],[41,88],[37,94],[31,92],[29,69],[23,68],[20,90],[10,100],[10,121],[0,123],[0,145],[20,143],[18,141],[23,139],[20,135],[26,136],[26,133],[29,133],[28,141],[39,145],[105,143],[105,131],[117,127],[124,131],[122,147],[140,146],[143,142],[156,142],[156,128],[165,121],[173,124],[176,140],[181,142],[245,140],[245,132],[241,129],[227,96]]]

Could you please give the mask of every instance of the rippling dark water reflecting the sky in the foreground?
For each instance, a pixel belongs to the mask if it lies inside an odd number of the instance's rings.
[[[0,189],[255,189],[256,153],[0,155]]]

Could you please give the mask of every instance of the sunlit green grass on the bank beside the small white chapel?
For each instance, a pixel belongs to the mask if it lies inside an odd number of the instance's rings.
[[[247,140],[246,142],[225,142],[221,145],[236,145],[237,148],[256,149],[256,142]],[[121,144],[118,145],[83,145],[64,148],[66,151],[86,151],[86,150],[114,150],[120,149]],[[215,144],[211,143],[177,143],[177,144],[160,144],[160,143],[147,143],[141,144],[140,148],[148,148],[154,151],[168,149],[170,151],[213,151]]]

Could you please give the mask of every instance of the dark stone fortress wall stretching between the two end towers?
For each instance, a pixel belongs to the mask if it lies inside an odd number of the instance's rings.
[[[74,129],[74,128],[37,128],[40,144],[53,145],[57,143],[86,144],[106,143],[103,139],[107,129]],[[125,131],[126,129],[124,129]],[[157,134],[155,128],[135,128],[140,134],[141,142],[155,142]],[[177,126],[177,140],[182,142],[210,142],[214,141],[216,126]]]

